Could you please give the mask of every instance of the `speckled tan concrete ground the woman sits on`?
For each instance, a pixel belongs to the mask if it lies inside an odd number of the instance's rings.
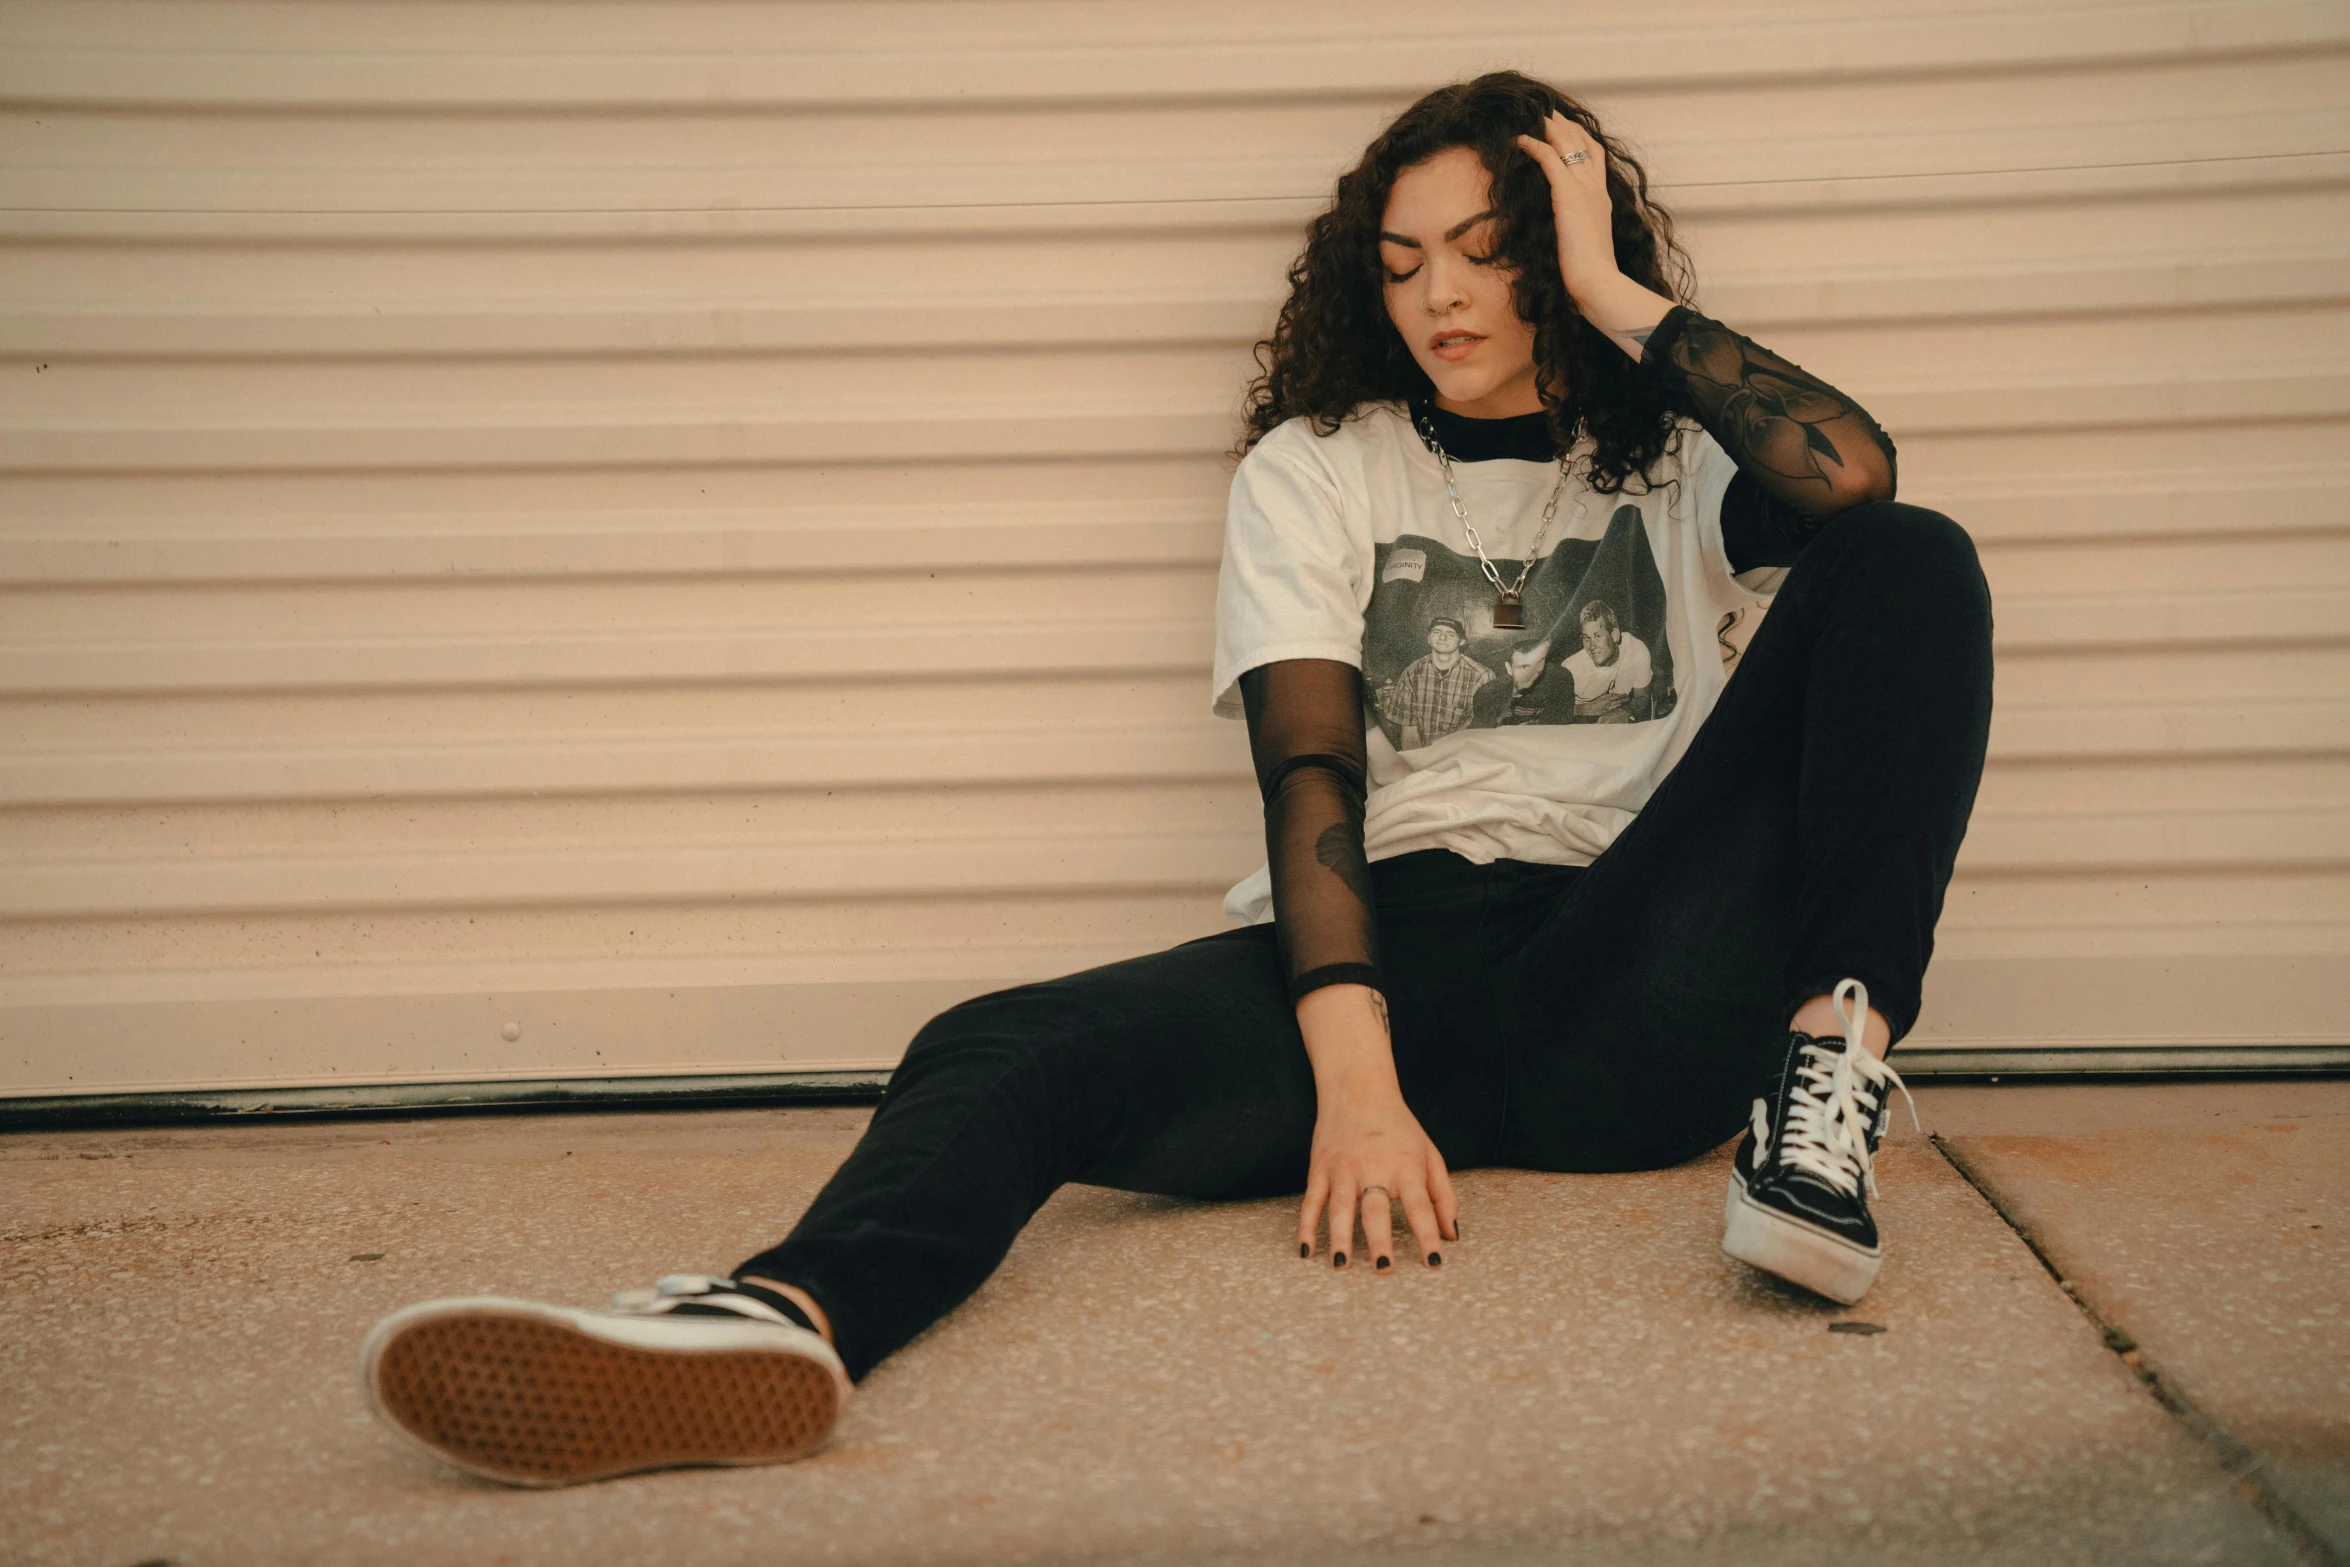
[[[0,1137],[0,1560],[2350,1560],[2350,1083],[1918,1099],[1856,1309],[1720,1255],[1727,1151],[1469,1172],[1394,1276],[1069,1189],[818,1457],[573,1492],[378,1431],[367,1325],[724,1271],[862,1111]]]

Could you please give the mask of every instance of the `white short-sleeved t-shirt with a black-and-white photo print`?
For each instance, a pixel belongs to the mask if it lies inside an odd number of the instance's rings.
[[[1558,465],[1452,472],[1485,554],[1516,583]],[[1497,630],[1495,587],[1410,416],[1377,404],[1328,437],[1292,418],[1231,482],[1215,712],[1243,717],[1238,679],[1257,665],[1356,665],[1370,860],[1450,848],[1478,865],[1589,865],[1680,761],[1781,576],[1730,573],[1734,472],[1683,425],[1640,493],[1567,479],[1525,583],[1525,630]],[[1231,888],[1224,912],[1271,919],[1267,872]]]

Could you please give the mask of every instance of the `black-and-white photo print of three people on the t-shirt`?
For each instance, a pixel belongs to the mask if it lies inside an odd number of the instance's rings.
[[[1495,561],[1504,583],[1523,561]],[[1565,538],[1525,583],[1525,630],[1492,623],[1473,554],[1405,533],[1377,545],[1363,611],[1365,717],[1398,752],[1462,728],[1647,724],[1673,712],[1664,578],[1640,507]]]

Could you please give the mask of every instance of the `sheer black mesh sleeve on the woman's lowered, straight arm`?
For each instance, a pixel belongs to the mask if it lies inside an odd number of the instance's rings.
[[[1283,658],[1241,677],[1264,796],[1264,855],[1290,1001],[1323,984],[1379,987],[1379,930],[1363,858],[1363,677]]]

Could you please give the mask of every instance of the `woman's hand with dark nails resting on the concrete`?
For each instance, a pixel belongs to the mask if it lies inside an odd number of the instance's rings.
[[[1459,1240],[1459,1198],[1445,1156],[1419,1130],[1419,1116],[1396,1085],[1384,1015],[1379,994],[1361,984],[1332,984],[1297,1003],[1321,1102],[1307,1201],[1297,1210],[1297,1255],[1314,1255],[1314,1233],[1328,1215],[1330,1262],[1342,1269],[1358,1255],[1368,1255],[1372,1269],[1394,1269],[1389,1198],[1403,1203],[1422,1264],[1438,1266],[1441,1243]],[[1363,1252],[1354,1245],[1356,1224]]]

